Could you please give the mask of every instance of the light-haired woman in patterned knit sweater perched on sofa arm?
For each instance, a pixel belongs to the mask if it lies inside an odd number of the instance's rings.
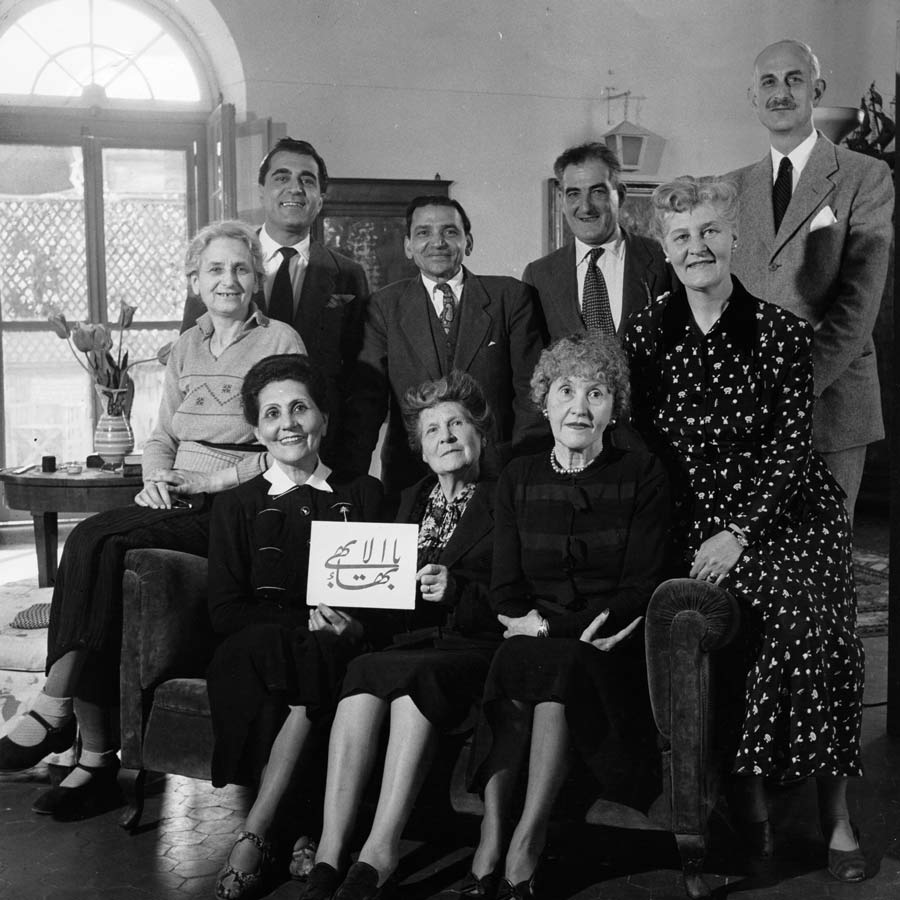
[[[304,349],[292,328],[252,302],[264,270],[246,225],[216,222],[199,231],[185,273],[207,311],[172,348],[156,427],[144,445],[144,487],[135,506],[91,516],[67,538],[53,589],[47,682],[0,739],[0,772],[20,771],[69,747],[77,720],[78,765],[35,800],[37,813],[83,817],[118,799],[113,723],[125,554],[159,547],[206,556],[208,495],[264,468],[263,448],[241,414],[241,380],[265,356]]]

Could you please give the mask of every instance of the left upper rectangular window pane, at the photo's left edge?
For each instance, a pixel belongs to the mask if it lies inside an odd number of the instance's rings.
[[[81,148],[0,146],[0,315],[87,317]]]

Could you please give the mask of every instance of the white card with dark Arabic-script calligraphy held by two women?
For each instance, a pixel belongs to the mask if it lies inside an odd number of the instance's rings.
[[[307,606],[414,609],[419,526],[313,522]]]

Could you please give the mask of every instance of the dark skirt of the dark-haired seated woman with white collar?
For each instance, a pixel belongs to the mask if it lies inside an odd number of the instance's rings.
[[[290,706],[328,727],[357,642],[333,632],[261,623],[229,635],[206,676],[215,744],[215,787],[246,783],[268,759]]]

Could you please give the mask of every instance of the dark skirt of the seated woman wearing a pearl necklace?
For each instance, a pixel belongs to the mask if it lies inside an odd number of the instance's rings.
[[[639,633],[609,652],[575,638],[517,636],[494,655],[469,766],[469,790],[490,776],[497,707],[561,703],[579,761],[604,797],[646,811],[659,793],[659,754]]]

